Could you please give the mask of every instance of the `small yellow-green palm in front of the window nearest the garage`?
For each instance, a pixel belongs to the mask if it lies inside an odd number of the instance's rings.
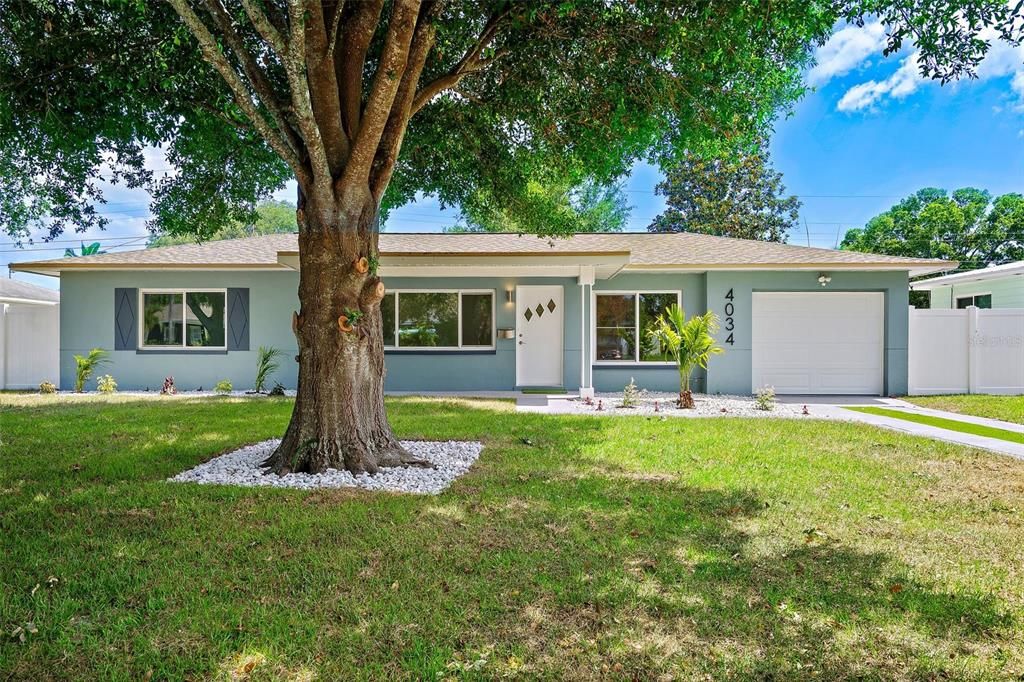
[[[690,376],[693,370],[708,369],[712,355],[725,352],[715,342],[715,332],[718,331],[718,315],[708,311],[702,315],[694,315],[688,321],[686,312],[676,304],[670,305],[664,314],[657,316],[654,327],[647,331],[647,336],[662,347],[662,352],[675,360],[679,368],[679,400],[678,406],[684,410],[692,410],[693,393],[690,391]]]

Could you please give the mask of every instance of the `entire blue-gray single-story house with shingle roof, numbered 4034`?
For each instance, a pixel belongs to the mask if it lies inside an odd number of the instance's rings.
[[[646,335],[676,302],[721,319],[708,392],[905,393],[908,276],[955,266],[689,233],[383,233],[380,257],[388,390],[584,394],[631,377],[677,390]],[[60,276],[63,388],[93,346],[124,388],[248,387],[261,345],[286,351],[274,379],[295,385],[295,235],[11,267]]]

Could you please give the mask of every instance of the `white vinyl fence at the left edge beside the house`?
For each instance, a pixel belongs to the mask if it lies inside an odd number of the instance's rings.
[[[0,303],[0,388],[60,383],[60,308]]]

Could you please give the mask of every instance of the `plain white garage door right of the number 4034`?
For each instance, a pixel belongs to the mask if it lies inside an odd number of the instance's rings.
[[[882,293],[755,293],[753,389],[881,395]]]

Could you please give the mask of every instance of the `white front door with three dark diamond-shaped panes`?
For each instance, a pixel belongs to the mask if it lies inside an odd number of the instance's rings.
[[[564,299],[558,286],[515,288],[515,383],[562,385]]]

